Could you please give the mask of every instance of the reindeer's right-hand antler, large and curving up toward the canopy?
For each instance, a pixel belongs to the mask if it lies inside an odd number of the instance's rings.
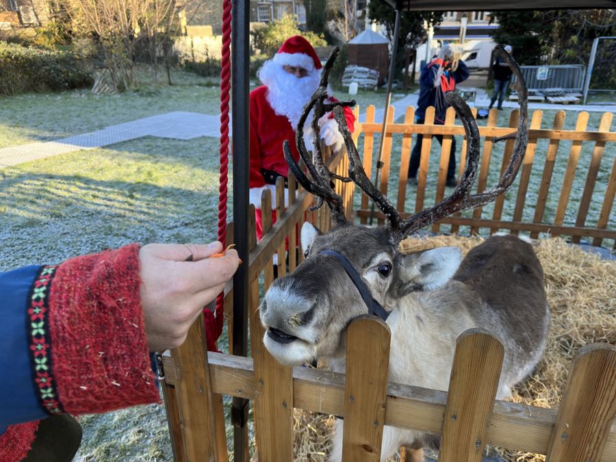
[[[389,202],[387,197],[374,186],[370,179],[365,175],[363,166],[361,165],[361,159],[357,153],[357,147],[353,142],[351,135],[346,127],[346,121],[342,114],[342,110],[339,108],[334,109],[334,116],[338,123],[340,133],[344,138],[346,149],[349,158],[349,176],[350,178],[367,194],[376,206],[383,211],[383,214],[389,221],[389,226],[392,228],[392,240],[394,244],[398,244],[407,235],[422,229],[437,222],[441,218],[444,218],[457,211],[465,209],[471,209],[485,205],[493,201],[497,196],[504,193],[509,189],[519,166],[522,165],[522,159],[524,159],[524,153],[526,153],[526,145],[528,144],[528,128],[526,123],[527,117],[527,101],[528,92],[526,91],[526,84],[524,77],[517,66],[517,63],[513,58],[504,51],[502,46],[497,47],[498,52],[503,55],[504,59],[509,62],[513,68],[513,72],[517,76],[517,92],[519,99],[519,124],[517,127],[517,133],[515,136],[515,144],[513,147],[513,155],[511,156],[511,162],[506,168],[504,174],[498,181],[498,185],[487,192],[481,194],[470,194],[470,190],[475,181],[478,168],[479,159],[479,129],[477,123],[470,111],[470,107],[465,103],[458,94],[451,92],[446,95],[446,99],[450,105],[454,108],[456,114],[459,116],[464,126],[467,139],[467,163],[466,168],[460,178],[460,182],[457,188],[452,192],[450,196],[443,201],[435,204],[433,207],[424,209],[409,216],[406,220],[400,218],[400,214],[396,207]]]

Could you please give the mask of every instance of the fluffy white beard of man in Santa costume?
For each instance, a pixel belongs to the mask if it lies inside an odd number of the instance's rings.
[[[274,112],[289,119],[296,130],[304,106],[319,87],[321,70],[311,70],[306,77],[300,79],[287,73],[280,64],[269,60],[261,66],[257,76],[268,88],[266,98]],[[310,120],[307,118],[307,125]]]

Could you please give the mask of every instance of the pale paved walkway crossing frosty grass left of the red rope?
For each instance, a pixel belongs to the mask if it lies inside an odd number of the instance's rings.
[[[10,146],[0,149],[0,168],[79,149],[99,148],[142,136],[176,140],[191,140],[198,136],[218,138],[220,116],[207,116],[196,112],[168,112],[60,140]]]

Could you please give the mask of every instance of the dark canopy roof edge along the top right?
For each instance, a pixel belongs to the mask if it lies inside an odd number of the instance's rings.
[[[493,11],[616,8],[616,0],[385,0],[399,10]]]

